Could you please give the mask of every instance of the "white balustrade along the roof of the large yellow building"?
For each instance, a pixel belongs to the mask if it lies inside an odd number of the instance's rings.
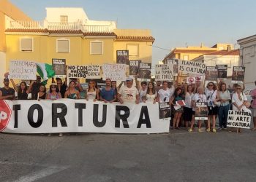
[[[100,24],[100,23],[99,23]],[[81,30],[83,32],[113,32],[116,25],[82,25],[82,23],[48,23],[47,21],[10,21],[7,29],[48,29],[48,30]]]

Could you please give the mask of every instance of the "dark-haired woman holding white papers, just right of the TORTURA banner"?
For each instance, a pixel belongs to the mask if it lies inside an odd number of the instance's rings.
[[[181,115],[183,113],[183,106],[178,105],[179,100],[184,100],[182,97],[182,90],[180,87],[177,87],[174,91],[173,96],[170,98],[170,105],[174,106],[174,118],[173,118],[173,130],[178,129],[178,124],[181,120]],[[178,106],[178,108],[176,108]]]

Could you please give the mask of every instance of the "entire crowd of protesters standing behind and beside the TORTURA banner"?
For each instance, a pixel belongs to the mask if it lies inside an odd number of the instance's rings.
[[[10,81],[14,89],[9,87]],[[134,83],[135,82],[135,83]],[[255,82],[256,84],[256,82]],[[134,86],[136,85],[136,86]],[[173,82],[139,82],[128,77],[125,82],[118,86],[116,81],[105,80],[105,87],[99,89],[97,82],[91,80],[86,92],[86,100],[101,100],[105,103],[169,103],[171,107],[172,119],[170,128],[178,130],[181,121],[189,132],[193,132],[197,123],[198,132],[202,132],[202,124],[206,125],[206,132],[217,132],[216,120],[219,119],[219,130],[227,130],[227,115],[230,109],[234,111],[252,111],[254,126],[256,130],[256,89],[252,90],[252,106],[247,101],[243,92],[244,85],[233,84],[233,88],[227,87],[225,82],[208,82],[202,87],[202,83],[195,84],[173,84]],[[26,82],[20,82],[19,86],[12,79],[4,78],[4,87],[0,90],[1,100],[27,100],[29,93],[33,100],[57,100],[60,98],[80,99],[80,92],[83,91],[79,79],[72,79],[67,84],[67,79],[52,79],[50,89],[41,83],[41,77],[37,76],[36,81],[32,81],[29,87]],[[17,97],[15,96],[17,92]],[[185,106],[175,109],[178,100],[184,100]],[[195,103],[207,102],[208,120],[195,121]],[[190,123],[190,126],[189,126]],[[59,134],[60,136],[62,133]]]

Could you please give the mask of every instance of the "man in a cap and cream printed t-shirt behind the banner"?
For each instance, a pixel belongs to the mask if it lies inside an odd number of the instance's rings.
[[[126,79],[126,85],[118,90],[118,100],[120,103],[140,103],[139,92],[136,87],[132,86],[132,78]]]

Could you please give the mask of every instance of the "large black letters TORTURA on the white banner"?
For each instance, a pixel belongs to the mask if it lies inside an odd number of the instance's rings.
[[[22,109],[20,104],[13,105],[14,110],[14,128],[18,128],[18,119],[19,111]],[[102,121],[99,121],[99,104],[93,105],[93,124],[95,127],[104,127],[107,122],[107,105],[103,104],[102,107]],[[78,121],[74,121],[78,123],[78,127],[86,127],[84,126],[86,120],[86,116],[83,116],[83,110],[86,109],[86,103],[75,103],[75,109],[77,109],[78,114]],[[58,120],[61,124],[61,127],[68,127],[67,120],[65,116],[68,114],[68,109],[66,104],[64,103],[52,103],[51,104],[51,111],[52,111],[52,120],[51,124],[52,127],[58,127]],[[34,114],[37,113],[37,114]],[[37,119],[34,118],[34,115],[37,116]],[[130,110],[127,106],[118,106],[116,105],[116,114],[114,124],[116,128],[120,128],[120,124],[122,122],[124,128],[129,128],[128,118],[130,115]],[[29,125],[34,128],[38,128],[44,122],[44,111],[41,105],[33,104],[30,106],[27,119]],[[36,120],[36,121],[35,121]],[[47,121],[45,121],[47,122]],[[142,106],[140,109],[140,117],[138,118],[137,128],[141,128],[142,124],[146,124],[146,128],[151,128],[151,121],[148,114],[148,107]]]

